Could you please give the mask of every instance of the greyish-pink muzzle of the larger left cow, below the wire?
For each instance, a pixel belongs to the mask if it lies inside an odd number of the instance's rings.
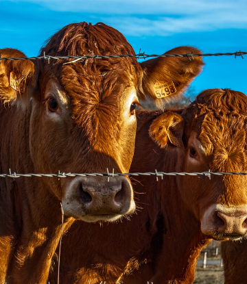
[[[126,177],[77,177],[65,188],[64,214],[86,222],[115,221],[135,209]]]

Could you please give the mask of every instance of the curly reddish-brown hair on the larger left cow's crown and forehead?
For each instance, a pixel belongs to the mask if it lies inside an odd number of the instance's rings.
[[[47,40],[40,55],[118,55],[133,54],[126,38],[104,23],[72,23]],[[45,94],[47,81],[54,78],[69,96],[72,117],[84,129],[84,135],[95,141],[95,132],[108,129],[115,135],[119,119],[119,99],[141,80],[141,66],[135,57],[111,57],[84,60],[40,60],[40,89]],[[95,129],[95,131],[92,131]],[[103,135],[103,131],[102,135]],[[98,138],[99,139],[99,138]]]

